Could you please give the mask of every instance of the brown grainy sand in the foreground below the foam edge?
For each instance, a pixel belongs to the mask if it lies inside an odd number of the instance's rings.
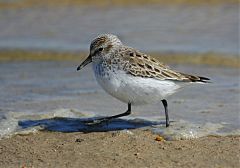
[[[149,130],[41,131],[0,140],[0,167],[239,167],[240,137],[162,141]]]

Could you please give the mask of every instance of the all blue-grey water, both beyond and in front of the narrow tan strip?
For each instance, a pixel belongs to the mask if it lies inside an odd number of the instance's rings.
[[[238,54],[238,6],[29,7],[0,10],[0,49],[88,50],[99,33],[114,33],[142,51]],[[144,39],[144,40],[143,40]],[[96,83],[88,66],[73,62],[0,63],[0,138],[40,129],[61,132],[151,129],[167,139],[240,135],[239,69],[172,65],[207,76],[211,84],[192,85],[168,98],[164,109],[133,107],[133,114],[107,124],[84,122],[118,114],[127,105]]]

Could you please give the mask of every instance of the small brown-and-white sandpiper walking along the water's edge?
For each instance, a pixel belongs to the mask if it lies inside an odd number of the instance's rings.
[[[165,109],[166,127],[169,126],[166,98],[190,83],[207,83],[208,78],[174,71],[157,59],[124,45],[117,36],[101,34],[90,45],[89,56],[77,70],[92,62],[93,71],[102,88],[127,103],[126,112],[98,118],[101,123],[131,114],[131,105],[162,102]]]

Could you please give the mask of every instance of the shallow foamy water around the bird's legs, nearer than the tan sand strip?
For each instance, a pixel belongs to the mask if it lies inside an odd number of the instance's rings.
[[[239,69],[171,65],[186,73],[212,79],[169,97],[171,126],[165,128],[164,109],[133,106],[129,117],[86,126],[83,121],[118,114],[127,105],[113,99],[96,83],[91,66],[76,71],[75,62],[0,63],[0,137],[22,131],[109,131],[149,127],[168,139],[205,135],[240,135]]]

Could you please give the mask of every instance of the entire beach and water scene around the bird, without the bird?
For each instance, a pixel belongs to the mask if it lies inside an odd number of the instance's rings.
[[[2,0],[0,167],[239,167],[238,4]],[[126,109],[76,71],[105,32],[211,83],[168,98],[168,128],[162,104],[86,125]]]

